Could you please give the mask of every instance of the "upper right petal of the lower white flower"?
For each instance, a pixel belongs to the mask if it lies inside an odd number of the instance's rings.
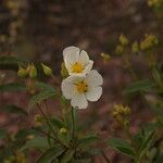
[[[88,86],[101,86],[103,84],[102,76],[95,70],[90,71],[86,77]]]

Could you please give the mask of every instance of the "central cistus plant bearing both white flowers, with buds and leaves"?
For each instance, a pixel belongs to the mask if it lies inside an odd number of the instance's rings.
[[[62,82],[48,65],[40,64],[41,72],[52,78],[53,85],[39,82],[39,68],[34,63],[18,66],[17,75],[24,80],[30,97],[28,112],[35,106],[39,110],[35,124],[29,129],[35,134],[32,134],[32,139],[24,141],[25,145],[21,146],[18,152],[26,153],[30,148],[39,149],[41,154],[38,163],[91,162],[95,154],[103,155],[103,150],[97,148],[100,140],[98,134],[86,134],[77,123],[78,110],[87,109],[88,101],[97,101],[102,95],[103,78],[98,71],[91,70],[92,65],[93,61],[85,50],[67,47],[63,50]],[[61,116],[50,114],[47,104],[49,98],[61,102],[61,108],[58,109]],[[42,105],[46,105],[46,111]],[[14,154],[11,156],[16,159]],[[7,162],[11,156],[3,161]]]

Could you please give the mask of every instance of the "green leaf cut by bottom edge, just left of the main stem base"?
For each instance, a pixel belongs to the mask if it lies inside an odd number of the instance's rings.
[[[52,160],[57,159],[62,153],[63,149],[52,147],[42,153],[42,155],[37,160],[37,163],[51,163]]]

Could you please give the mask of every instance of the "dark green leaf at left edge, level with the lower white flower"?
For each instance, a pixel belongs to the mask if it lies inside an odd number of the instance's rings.
[[[0,85],[0,92],[4,91],[24,91],[26,87],[23,84],[4,84]]]

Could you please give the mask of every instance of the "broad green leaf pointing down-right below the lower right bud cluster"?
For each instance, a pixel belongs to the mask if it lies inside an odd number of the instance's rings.
[[[130,158],[135,158],[135,151],[133,147],[125,140],[118,138],[112,138],[108,141],[109,146],[118,152],[128,155]]]

